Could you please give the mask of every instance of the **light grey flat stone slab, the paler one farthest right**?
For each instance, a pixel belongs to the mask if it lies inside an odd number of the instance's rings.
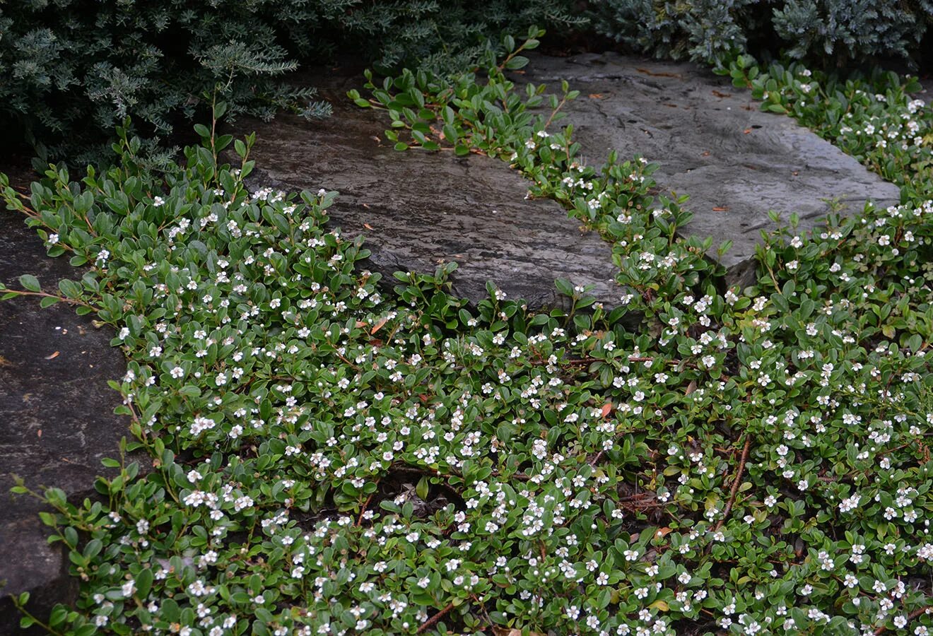
[[[866,200],[886,207],[900,191],[856,159],[784,115],[765,113],[748,90],[692,63],[657,62],[616,53],[571,58],[536,55],[517,82],[566,79],[578,99],[564,106],[583,159],[602,165],[609,151],[661,164],[661,190],[687,194],[694,214],[685,232],[730,239],[721,262],[728,283],[754,283],[759,230],[770,210],[801,229],[814,228],[836,200],[858,212]]]

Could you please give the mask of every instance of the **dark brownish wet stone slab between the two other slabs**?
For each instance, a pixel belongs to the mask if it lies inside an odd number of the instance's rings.
[[[492,280],[529,308],[563,305],[554,280],[592,284],[592,295],[619,304],[610,245],[581,228],[551,200],[526,200],[528,182],[505,161],[451,151],[398,152],[383,132],[383,111],[355,106],[346,91],[360,74],[308,80],[323,87],[334,115],[307,122],[279,116],[271,123],[237,122],[256,131],[251,159],[256,184],[282,189],[339,190],[330,224],[344,236],[366,235],[368,267],[390,284],[395,271],[433,273],[455,261],[453,292],[477,302]]]

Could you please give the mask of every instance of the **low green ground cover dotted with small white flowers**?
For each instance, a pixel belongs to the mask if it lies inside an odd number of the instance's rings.
[[[536,35],[481,73],[369,76],[351,97],[400,149],[500,157],[599,228],[612,311],[565,281],[566,314],[494,285],[470,309],[446,269],[383,292],[361,242],[322,227],[334,193],[247,191],[252,140],[206,127],[164,174],[123,131],[107,173],[5,187],[49,254],[91,267],[6,297],[115,328],[121,411],[155,467],[110,462],[104,502],[45,493],[84,581],[54,632],[933,629],[933,201],[905,186],[812,234],[791,219],[759,282],[721,289],[711,242],[677,236],[687,201],[649,194],[654,166],[580,163],[555,130],[571,87],[508,80]],[[231,144],[239,165],[218,165]]]

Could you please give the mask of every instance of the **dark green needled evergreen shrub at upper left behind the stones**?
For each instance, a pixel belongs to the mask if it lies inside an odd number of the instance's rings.
[[[284,108],[320,117],[327,104],[314,99],[313,88],[281,80],[299,63],[326,63],[342,49],[364,63],[419,60],[450,70],[472,62],[484,39],[500,29],[578,23],[567,4],[8,3],[0,7],[0,117],[7,131],[54,159],[75,159],[76,153],[99,159],[108,149],[101,140],[127,116],[146,136],[164,139],[179,119],[205,117],[216,92],[228,104],[228,118],[272,118]]]

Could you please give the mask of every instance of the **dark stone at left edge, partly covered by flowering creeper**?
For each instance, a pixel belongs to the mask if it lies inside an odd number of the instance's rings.
[[[18,286],[24,273],[48,289],[77,277],[66,258],[46,256],[19,215],[0,213],[0,281]],[[0,302],[0,634],[23,633],[9,594],[29,591],[40,616],[75,599],[77,580],[68,576],[62,544],[48,545],[50,531],[38,517],[48,508],[10,488],[17,475],[35,491],[58,487],[79,502],[104,473],[101,460],[118,457],[119,439],[129,431],[113,414],[120,399],[106,383],[126,372],[110,346],[113,336],[66,305]]]

